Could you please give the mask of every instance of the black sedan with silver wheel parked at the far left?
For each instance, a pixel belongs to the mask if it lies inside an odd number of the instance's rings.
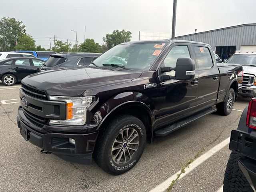
[[[0,79],[6,86],[20,82],[24,77],[40,71],[44,60],[32,57],[12,57],[0,61]]]

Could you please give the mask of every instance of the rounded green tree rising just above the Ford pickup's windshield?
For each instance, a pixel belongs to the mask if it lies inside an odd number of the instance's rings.
[[[130,31],[125,31],[125,30],[114,30],[112,34],[106,34],[106,37],[103,37],[103,41],[106,43],[108,49],[126,42],[130,41],[132,38],[132,33]]]

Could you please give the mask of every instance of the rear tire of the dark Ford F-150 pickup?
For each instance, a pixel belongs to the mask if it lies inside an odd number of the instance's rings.
[[[232,94],[232,102],[231,102],[230,108],[228,109],[228,103],[230,103],[229,102],[230,94]],[[235,102],[235,92],[234,92],[234,89],[230,88],[228,90],[225,100],[216,105],[217,113],[219,115],[229,115],[232,112],[232,109],[234,107],[234,102]]]

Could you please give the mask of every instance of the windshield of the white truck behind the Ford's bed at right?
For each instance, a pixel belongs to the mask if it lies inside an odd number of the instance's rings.
[[[256,66],[256,54],[232,55],[226,63],[237,63],[242,65]]]

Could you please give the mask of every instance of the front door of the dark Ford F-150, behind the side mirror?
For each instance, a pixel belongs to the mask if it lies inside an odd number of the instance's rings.
[[[190,46],[173,44],[161,66],[176,67],[177,59],[184,57],[192,58]],[[175,71],[166,74],[173,79],[160,82],[158,126],[174,122],[194,111],[198,96],[197,75],[190,80],[176,80]]]

